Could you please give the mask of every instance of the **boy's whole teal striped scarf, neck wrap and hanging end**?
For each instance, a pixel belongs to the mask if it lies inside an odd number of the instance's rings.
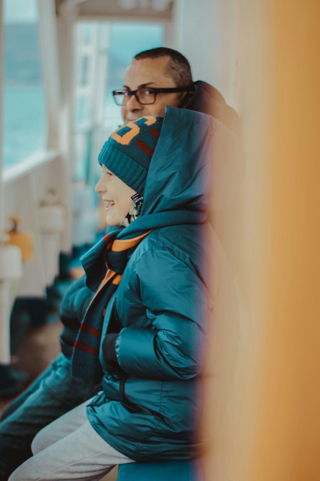
[[[206,222],[205,212],[178,210],[139,216],[124,229],[113,230],[82,258],[86,285],[95,292],[83,318],[72,354],[72,376],[100,382],[101,334],[107,304],[117,290],[122,273],[137,245],[153,229]],[[135,237],[133,237],[135,236]]]

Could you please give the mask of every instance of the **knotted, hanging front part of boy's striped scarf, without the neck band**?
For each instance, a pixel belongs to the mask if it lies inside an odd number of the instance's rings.
[[[74,343],[72,376],[94,382],[102,377],[99,352],[107,304],[119,286],[131,254],[150,231],[126,240],[115,239],[119,232],[121,229],[107,234],[81,258],[86,284],[95,295]]]

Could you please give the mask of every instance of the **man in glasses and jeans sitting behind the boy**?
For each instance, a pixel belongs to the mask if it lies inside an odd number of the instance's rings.
[[[227,139],[240,136],[236,112],[211,85],[192,81],[188,60],[178,51],[160,47],[138,53],[128,66],[121,89],[113,96],[124,123],[146,115],[165,114],[166,106],[210,114],[227,128]],[[224,143],[224,138],[223,143]],[[240,140],[238,139],[240,142]],[[225,159],[223,159],[225,161]],[[224,162],[226,172],[233,171]],[[229,170],[228,170],[229,169]],[[92,291],[78,279],[61,305],[64,324],[61,353],[47,370],[4,411],[0,422],[0,481],[32,455],[31,442],[42,428],[92,397],[95,386],[71,377],[71,354]]]

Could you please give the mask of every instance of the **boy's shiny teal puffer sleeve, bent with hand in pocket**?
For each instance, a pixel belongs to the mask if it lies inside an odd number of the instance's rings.
[[[120,331],[115,343],[120,367],[128,375],[158,380],[198,376],[207,338],[207,290],[189,258],[150,249],[135,272],[150,327]]]

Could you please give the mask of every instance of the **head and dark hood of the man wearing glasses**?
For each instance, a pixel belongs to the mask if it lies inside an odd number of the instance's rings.
[[[166,107],[187,108],[212,115],[240,137],[240,120],[220,92],[198,80],[193,82],[190,63],[180,52],[166,47],[135,55],[121,89],[113,96],[124,123],[145,115],[165,114]]]

